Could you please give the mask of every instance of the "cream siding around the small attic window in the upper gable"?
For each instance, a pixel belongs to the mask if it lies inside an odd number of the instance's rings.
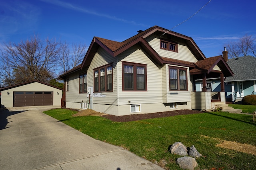
[[[146,37],[146,41],[152,46],[152,48],[156,51],[156,53],[158,53],[161,57],[184,60],[192,63],[197,62],[196,57],[191,53],[188,47],[182,42],[178,42],[178,53],[177,53],[174,51],[160,49],[160,37],[154,34]]]

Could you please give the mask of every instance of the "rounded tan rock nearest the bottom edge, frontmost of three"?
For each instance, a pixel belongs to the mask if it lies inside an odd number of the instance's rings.
[[[198,166],[196,159],[189,156],[177,158],[176,163],[184,170],[194,170]]]

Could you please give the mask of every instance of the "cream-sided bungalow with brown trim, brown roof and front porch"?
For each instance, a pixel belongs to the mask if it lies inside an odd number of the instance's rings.
[[[209,110],[225,102],[226,76],[233,72],[221,55],[206,58],[191,37],[154,26],[122,42],[94,37],[82,63],[59,80],[63,106],[119,116]],[[220,78],[218,92],[207,91],[206,78]]]

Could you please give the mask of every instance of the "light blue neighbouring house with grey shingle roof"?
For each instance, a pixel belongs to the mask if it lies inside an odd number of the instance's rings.
[[[256,94],[256,57],[244,56],[228,59],[234,77],[225,82],[226,100],[234,102],[250,94]]]

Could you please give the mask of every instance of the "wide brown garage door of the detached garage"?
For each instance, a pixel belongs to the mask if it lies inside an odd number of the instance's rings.
[[[53,92],[14,92],[13,107],[53,105]]]

